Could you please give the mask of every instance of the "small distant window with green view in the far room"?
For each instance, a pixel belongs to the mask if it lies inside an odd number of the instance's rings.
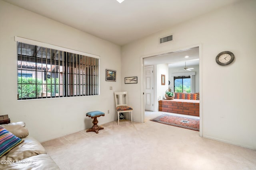
[[[190,76],[174,76],[174,92],[190,93]]]

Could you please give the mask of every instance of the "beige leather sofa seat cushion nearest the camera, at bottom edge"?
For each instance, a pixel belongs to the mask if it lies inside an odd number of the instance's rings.
[[[58,165],[47,154],[38,154],[29,158],[6,164],[4,170],[60,170]]]

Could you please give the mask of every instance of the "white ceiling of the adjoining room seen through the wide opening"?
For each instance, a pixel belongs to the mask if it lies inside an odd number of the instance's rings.
[[[185,58],[186,56],[188,56],[188,58]],[[196,47],[174,53],[148,57],[144,59],[144,65],[168,64],[169,68],[178,68],[184,67],[185,61],[187,67],[199,65],[199,48]]]

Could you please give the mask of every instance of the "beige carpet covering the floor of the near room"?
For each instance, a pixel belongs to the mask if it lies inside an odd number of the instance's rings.
[[[146,112],[145,123],[112,121],[98,134],[84,130],[42,145],[62,170],[256,169],[256,150],[148,121],[162,113]]]

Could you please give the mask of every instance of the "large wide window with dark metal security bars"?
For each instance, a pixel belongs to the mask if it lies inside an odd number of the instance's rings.
[[[99,59],[17,42],[18,100],[99,94]]]

